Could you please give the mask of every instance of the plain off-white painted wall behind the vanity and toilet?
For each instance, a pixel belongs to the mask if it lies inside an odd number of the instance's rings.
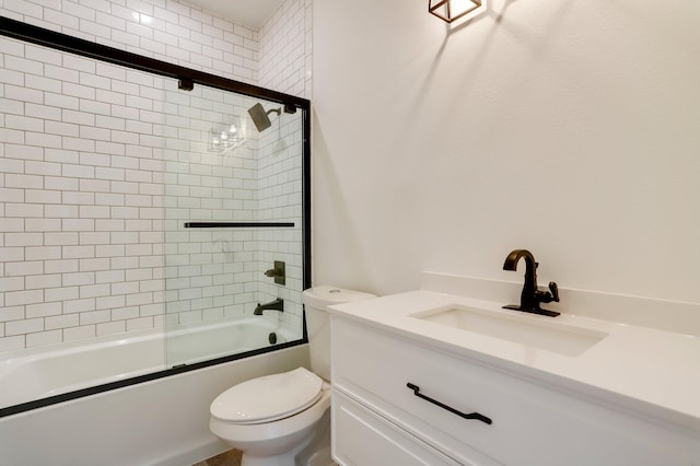
[[[700,3],[314,3],[315,281],[520,281],[528,248],[542,284],[700,301]]]

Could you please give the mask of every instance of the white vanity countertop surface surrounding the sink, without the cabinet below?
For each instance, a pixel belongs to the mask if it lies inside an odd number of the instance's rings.
[[[419,290],[335,305],[330,314],[700,434],[699,336],[563,312],[547,317],[502,311],[501,304]],[[451,306],[513,313],[513,318],[525,323],[537,325],[544,319],[545,325],[607,336],[581,354],[567,356],[416,317]]]

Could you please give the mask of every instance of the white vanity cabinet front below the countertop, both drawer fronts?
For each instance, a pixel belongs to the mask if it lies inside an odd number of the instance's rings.
[[[697,432],[340,314],[331,368],[343,465],[700,465]]]

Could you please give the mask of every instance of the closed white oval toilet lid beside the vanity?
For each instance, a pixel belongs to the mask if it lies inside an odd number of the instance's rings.
[[[304,368],[235,385],[211,404],[211,416],[226,422],[272,422],[306,409],[320,397],[323,380]]]

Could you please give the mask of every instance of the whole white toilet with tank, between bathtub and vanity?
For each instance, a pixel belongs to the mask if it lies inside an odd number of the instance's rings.
[[[330,329],[327,308],[374,298],[337,287],[302,293],[313,372],[296,368],[235,385],[211,404],[209,429],[243,451],[242,466],[328,466]]]

